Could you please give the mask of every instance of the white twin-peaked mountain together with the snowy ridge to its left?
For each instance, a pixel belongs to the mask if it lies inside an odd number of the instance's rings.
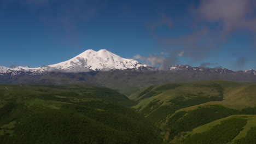
[[[125,70],[139,69],[148,67],[146,64],[141,64],[134,59],[122,58],[109,52],[105,49],[94,51],[86,50],[78,56],[69,59],[68,61],[45,65],[38,68],[30,67],[14,67],[7,68],[0,66],[0,73],[10,73],[10,71],[25,71],[32,73],[44,73],[47,71],[62,71],[62,72],[86,72],[86,71],[106,71],[106,70]]]

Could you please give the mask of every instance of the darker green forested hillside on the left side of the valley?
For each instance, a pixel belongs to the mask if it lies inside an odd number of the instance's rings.
[[[0,85],[0,143],[161,143],[135,104],[89,85]]]

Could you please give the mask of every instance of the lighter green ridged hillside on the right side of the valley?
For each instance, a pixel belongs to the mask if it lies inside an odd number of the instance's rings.
[[[153,85],[131,94],[129,98],[138,103],[134,109],[162,130],[166,143],[213,143],[221,135],[229,134],[223,131],[216,138],[211,136],[224,126],[236,133],[216,142],[241,143],[245,137],[252,137],[254,126],[251,123],[256,123],[255,87],[256,83],[222,80],[177,82]],[[243,118],[220,123],[220,119],[238,115],[243,115]],[[244,124],[237,126],[236,130],[230,129],[236,121]],[[222,126],[212,127],[212,123]],[[194,136],[198,131],[203,133]],[[208,137],[211,142],[202,137]]]

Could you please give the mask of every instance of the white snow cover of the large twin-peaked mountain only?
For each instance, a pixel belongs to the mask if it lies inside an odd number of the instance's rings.
[[[86,50],[80,55],[68,61],[48,65],[49,68],[56,70],[68,69],[88,69],[88,70],[110,70],[110,69],[133,69],[147,67],[133,59],[122,58],[107,50]]]

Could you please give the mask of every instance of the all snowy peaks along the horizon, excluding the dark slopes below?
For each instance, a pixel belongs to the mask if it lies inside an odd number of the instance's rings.
[[[134,59],[122,58],[109,52],[105,49],[94,51],[86,50],[80,55],[75,56],[68,61],[45,65],[38,68],[30,67],[13,67],[7,68],[0,66],[0,75],[18,75],[18,74],[30,74],[30,75],[43,75],[49,71],[60,72],[88,72],[88,71],[109,71],[109,70],[158,70],[158,68],[150,67],[146,64],[141,64]],[[241,70],[232,71],[222,68],[203,68],[203,67],[190,67],[189,65],[173,65],[169,68],[169,71],[175,73],[200,73],[200,74],[247,74],[256,75],[256,70]]]

